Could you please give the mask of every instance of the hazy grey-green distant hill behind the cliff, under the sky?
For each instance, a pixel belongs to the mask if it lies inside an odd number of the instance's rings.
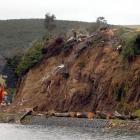
[[[88,28],[91,23],[57,20],[55,33],[64,33],[71,28]],[[29,44],[45,34],[43,19],[19,19],[0,21],[0,55],[11,57],[24,52]]]

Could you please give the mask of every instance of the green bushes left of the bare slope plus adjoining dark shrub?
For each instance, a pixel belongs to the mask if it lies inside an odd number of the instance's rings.
[[[17,54],[12,59],[7,59],[8,66],[12,69],[17,77],[27,72],[33,65],[42,59],[43,41],[34,41],[32,46],[24,55]]]

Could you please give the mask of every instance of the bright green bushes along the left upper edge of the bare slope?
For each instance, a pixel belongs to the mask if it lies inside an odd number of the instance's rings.
[[[16,73],[18,76],[26,73],[32,66],[37,64],[42,59],[42,48],[44,43],[42,41],[34,41],[32,47],[28,52],[22,57],[21,62],[16,68]]]

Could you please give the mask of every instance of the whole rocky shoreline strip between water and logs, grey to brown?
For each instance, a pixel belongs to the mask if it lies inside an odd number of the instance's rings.
[[[71,117],[54,117],[46,115],[28,115],[21,122],[21,114],[0,114],[0,123],[18,123],[22,125],[47,125],[47,126],[68,126],[68,127],[88,127],[88,128],[107,128],[123,129],[140,132],[139,120],[120,120],[120,119],[87,119]]]

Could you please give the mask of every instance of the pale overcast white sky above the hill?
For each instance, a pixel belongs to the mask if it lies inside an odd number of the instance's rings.
[[[0,19],[44,18],[94,22],[104,16],[110,24],[140,24],[140,0],[0,0]]]

